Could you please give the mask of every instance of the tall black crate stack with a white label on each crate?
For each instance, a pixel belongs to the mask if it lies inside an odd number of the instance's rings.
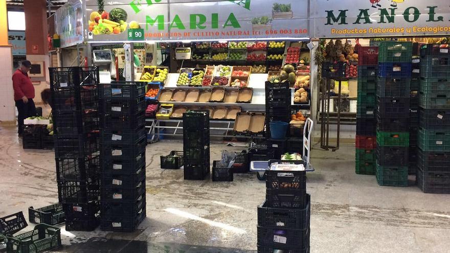
[[[145,85],[101,84],[101,219],[104,231],[134,231],[146,217]]]

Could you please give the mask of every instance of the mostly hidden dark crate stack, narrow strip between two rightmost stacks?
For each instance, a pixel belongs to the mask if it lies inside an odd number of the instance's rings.
[[[416,46],[416,43],[413,44]],[[416,52],[416,50],[413,50]],[[417,172],[417,134],[419,127],[419,85],[420,85],[420,55],[413,55],[411,59],[411,92],[410,92],[410,148],[408,174],[415,175]]]

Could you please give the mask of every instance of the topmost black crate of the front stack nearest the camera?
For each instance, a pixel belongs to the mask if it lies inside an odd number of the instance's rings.
[[[273,171],[267,170],[266,189],[302,190],[306,191],[305,171]]]

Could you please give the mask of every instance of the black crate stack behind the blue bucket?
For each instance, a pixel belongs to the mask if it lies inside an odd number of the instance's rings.
[[[274,151],[274,157],[279,159],[287,151],[287,139],[272,139],[270,123],[283,121],[289,123],[291,90],[289,82],[265,82],[265,126],[268,151]]]

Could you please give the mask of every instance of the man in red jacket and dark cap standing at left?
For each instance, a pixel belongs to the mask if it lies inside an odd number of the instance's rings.
[[[22,134],[24,128],[24,120],[28,117],[36,116],[36,106],[34,105],[34,86],[28,76],[31,68],[30,61],[22,61],[20,68],[18,68],[12,75],[12,85],[14,87],[14,100],[18,111],[18,134]]]

